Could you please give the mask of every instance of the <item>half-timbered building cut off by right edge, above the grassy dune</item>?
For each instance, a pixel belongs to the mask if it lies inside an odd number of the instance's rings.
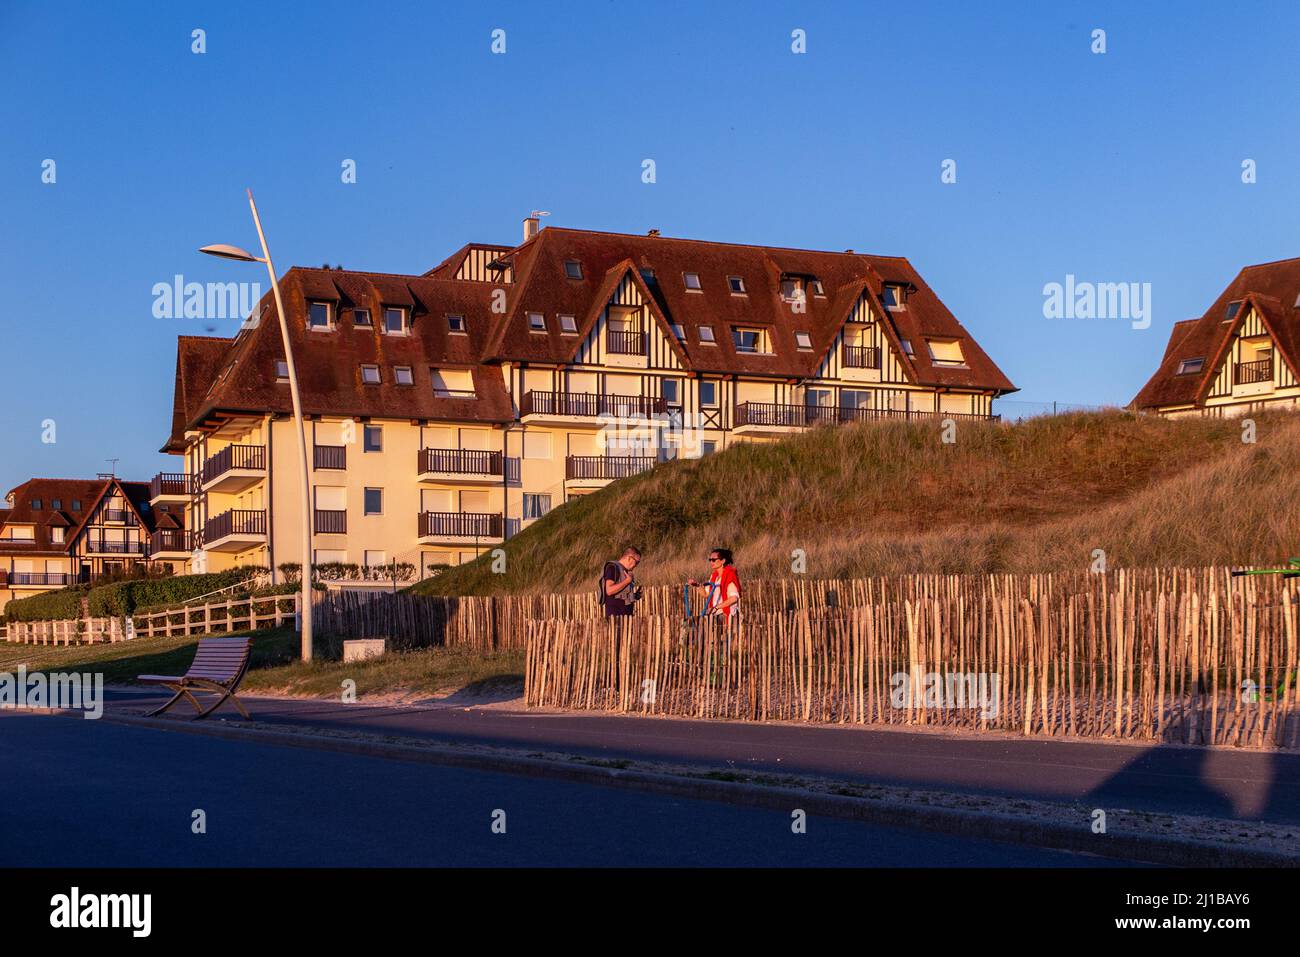
[[[1245,267],[1200,319],[1175,322],[1134,408],[1239,416],[1300,402],[1300,259]]]

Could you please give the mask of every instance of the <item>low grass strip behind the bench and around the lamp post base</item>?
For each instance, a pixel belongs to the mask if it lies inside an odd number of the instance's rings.
[[[322,642],[309,664],[296,661],[298,636],[291,628],[239,632],[254,637],[252,666],[243,681],[251,693],[337,697],[343,681],[356,683],[358,697],[377,694],[515,697],[523,693],[521,651],[476,654],[429,648],[387,654],[365,662],[339,661],[337,642]],[[0,642],[0,671],[103,672],[105,684],[130,684],[136,675],[183,675],[198,638],[135,638],[109,645],[17,645]]]

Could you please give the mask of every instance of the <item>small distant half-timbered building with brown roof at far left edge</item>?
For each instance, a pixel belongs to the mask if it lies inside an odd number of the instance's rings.
[[[66,585],[142,564],[179,570],[190,558],[185,516],[150,505],[146,482],[112,476],[31,478],[0,508],[0,611]],[[176,559],[173,562],[173,559]]]

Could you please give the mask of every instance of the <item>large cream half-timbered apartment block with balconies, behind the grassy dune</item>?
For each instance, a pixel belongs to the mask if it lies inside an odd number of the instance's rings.
[[[316,564],[491,549],[675,456],[880,417],[988,419],[1011,382],[906,259],[538,229],[422,276],[290,269]],[[173,428],[194,571],[300,559],[287,368],[264,299],[181,337]],[[153,498],[155,505],[164,498]]]

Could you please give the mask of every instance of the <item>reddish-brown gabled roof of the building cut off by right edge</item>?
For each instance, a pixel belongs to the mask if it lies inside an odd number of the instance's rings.
[[[1231,322],[1225,322],[1230,303],[1240,302]],[[1165,355],[1154,374],[1130,403],[1134,408],[1201,404],[1245,316],[1253,308],[1277,343],[1278,354],[1300,374],[1300,259],[1261,263],[1242,269],[1200,319],[1175,322]],[[1188,359],[1204,359],[1201,371],[1179,376]]]

